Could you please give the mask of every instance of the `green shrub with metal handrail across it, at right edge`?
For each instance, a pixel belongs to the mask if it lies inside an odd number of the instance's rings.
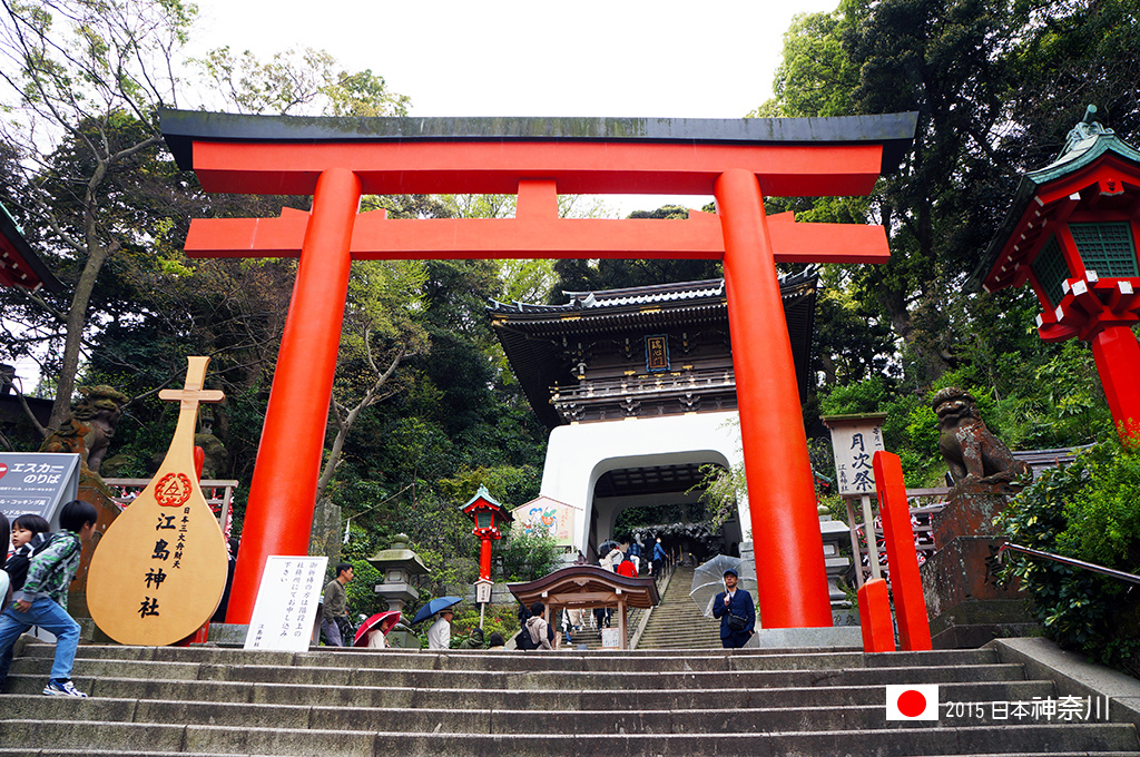
[[[1013,544],[1135,573],[1140,569],[1140,445],[1115,434],[1064,469],[1045,471],[995,523]],[[1140,677],[1140,596],[1129,584],[1015,555],[1044,633],[1067,649]]]

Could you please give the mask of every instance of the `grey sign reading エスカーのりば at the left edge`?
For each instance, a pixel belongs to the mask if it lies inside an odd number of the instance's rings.
[[[0,511],[9,521],[40,515],[59,527],[59,505],[79,495],[79,455],[0,453]]]

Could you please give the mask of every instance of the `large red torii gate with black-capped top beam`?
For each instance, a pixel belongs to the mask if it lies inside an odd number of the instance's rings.
[[[300,257],[250,487],[229,622],[266,559],[306,554],[352,260],[722,259],[765,627],[831,625],[775,262],[881,262],[882,227],[766,218],[763,196],[865,195],[914,114],[840,119],[308,119],[164,111],[206,192],[311,194],[309,213],[195,219],[190,257]],[[361,195],[519,194],[514,219],[388,219]],[[686,221],[560,219],[557,194],[711,194]],[[769,223],[769,221],[772,221]],[[780,327],[774,327],[780,324]]]

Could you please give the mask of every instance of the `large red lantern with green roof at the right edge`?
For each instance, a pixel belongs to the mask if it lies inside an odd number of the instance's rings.
[[[1122,433],[1140,437],[1140,152],[1090,105],[1051,164],[1021,177],[1013,206],[971,285],[1029,284],[1047,342],[1092,345],[1108,407]]]

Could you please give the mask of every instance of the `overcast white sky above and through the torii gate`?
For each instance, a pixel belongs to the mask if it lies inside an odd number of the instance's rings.
[[[792,16],[838,0],[196,0],[210,47],[324,49],[417,116],[740,119],[772,95]],[[617,210],[708,197],[611,198]]]

